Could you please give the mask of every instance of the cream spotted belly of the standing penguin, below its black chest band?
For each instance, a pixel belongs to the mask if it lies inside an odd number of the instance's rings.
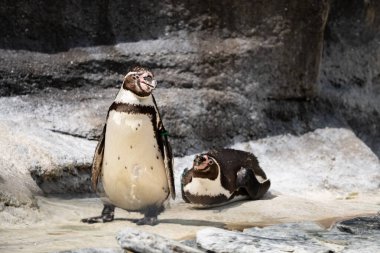
[[[168,197],[164,161],[148,115],[110,111],[102,180],[111,202],[129,211],[160,205]]]

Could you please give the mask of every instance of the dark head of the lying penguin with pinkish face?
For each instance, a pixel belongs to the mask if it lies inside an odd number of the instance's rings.
[[[201,154],[194,158],[193,162],[194,177],[208,178],[215,180],[219,175],[219,165],[215,158]]]

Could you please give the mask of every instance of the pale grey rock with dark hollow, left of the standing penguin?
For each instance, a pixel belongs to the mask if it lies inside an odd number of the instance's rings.
[[[0,133],[0,192],[7,206],[32,205],[42,192],[89,191],[95,142],[12,120],[0,122]]]

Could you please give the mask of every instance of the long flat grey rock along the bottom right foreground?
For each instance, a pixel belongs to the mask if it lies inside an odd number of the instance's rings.
[[[356,218],[325,230],[311,222],[290,223],[243,232],[207,228],[197,233],[205,250],[222,252],[378,252],[380,216]],[[355,231],[354,233],[352,231]]]

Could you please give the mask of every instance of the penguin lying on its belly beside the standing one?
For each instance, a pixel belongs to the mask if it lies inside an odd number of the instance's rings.
[[[193,167],[181,178],[183,200],[199,206],[219,205],[238,196],[259,199],[269,187],[270,180],[257,158],[234,149],[197,155]]]

